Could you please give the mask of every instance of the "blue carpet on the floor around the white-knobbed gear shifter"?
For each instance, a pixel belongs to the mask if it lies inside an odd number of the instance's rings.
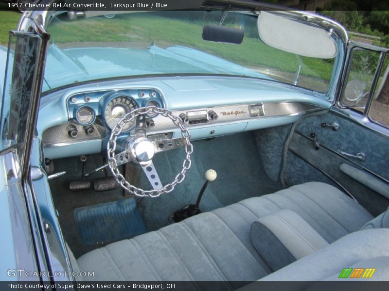
[[[146,197],[139,203],[139,210],[148,231],[168,225],[169,215],[196,202],[207,169],[214,169],[217,178],[208,185],[201,199],[200,209],[203,212],[281,189],[279,182],[274,182],[265,174],[253,132],[192,143],[192,167],[186,172],[185,180],[171,193],[157,198]],[[182,147],[154,157],[153,162],[163,184],[171,182],[181,171],[184,157]],[[138,177],[140,183],[137,186],[143,189],[151,188],[141,169]]]

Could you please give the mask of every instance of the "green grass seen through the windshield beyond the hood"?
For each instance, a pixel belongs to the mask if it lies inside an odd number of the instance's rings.
[[[274,67],[296,72],[299,60],[294,54],[270,48],[259,38],[246,36],[241,45],[207,42],[202,39],[203,23],[169,19],[150,14],[117,15],[113,19],[94,17],[81,21],[57,21],[49,27],[56,43],[156,41],[158,46],[183,45],[210,52],[248,67]],[[80,43],[80,46],[82,44]],[[332,62],[303,58],[301,75],[330,80]]]

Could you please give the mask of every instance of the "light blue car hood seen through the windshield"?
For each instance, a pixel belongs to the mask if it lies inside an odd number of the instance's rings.
[[[49,47],[43,91],[89,80],[152,74],[230,74],[271,79],[211,54],[174,46],[161,49]]]

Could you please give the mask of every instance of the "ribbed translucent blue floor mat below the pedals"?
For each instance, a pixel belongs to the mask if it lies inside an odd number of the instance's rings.
[[[84,244],[129,239],[147,231],[133,198],[76,208],[74,218]]]

